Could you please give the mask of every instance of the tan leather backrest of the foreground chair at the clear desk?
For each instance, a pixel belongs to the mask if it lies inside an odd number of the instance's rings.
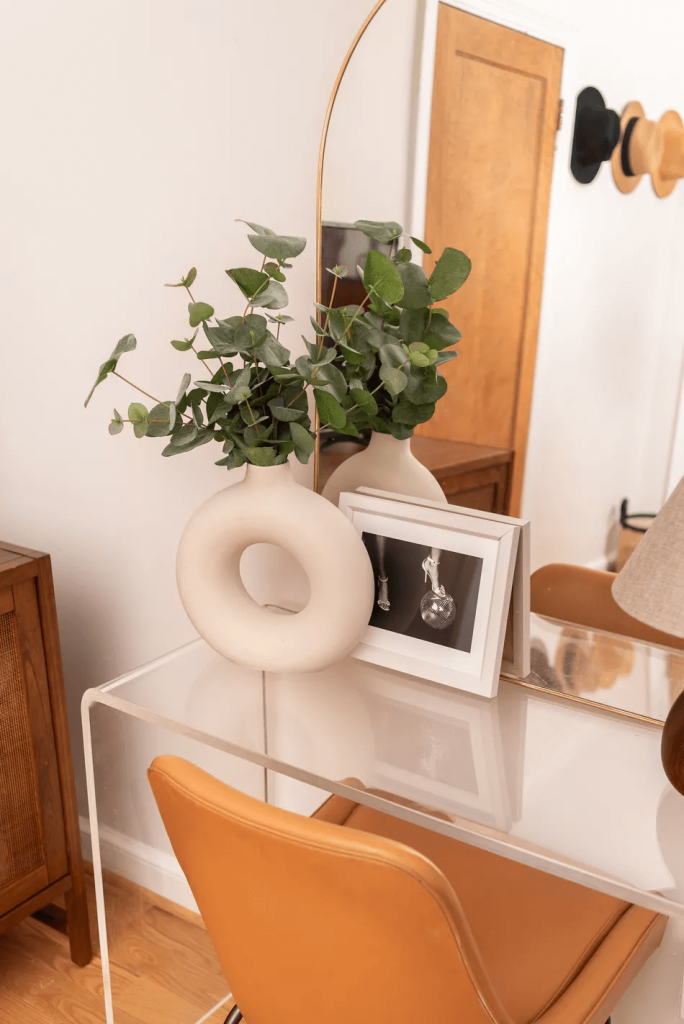
[[[269,806],[180,758],[157,758],[148,778],[248,1024],[511,1024],[422,854]]]

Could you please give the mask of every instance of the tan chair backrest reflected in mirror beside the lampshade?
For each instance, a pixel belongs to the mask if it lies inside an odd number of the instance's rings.
[[[614,572],[560,562],[543,565],[529,582],[530,607],[540,615],[684,650],[684,639],[654,630],[623,611],[612,596]]]

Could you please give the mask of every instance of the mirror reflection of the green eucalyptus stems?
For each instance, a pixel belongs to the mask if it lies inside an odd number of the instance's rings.
[[[304,339],[308,355],[296,367],[330,383],[315,390],[322,426],[352,436],[371,428],[403,439],[432,417],[446,392],[437,368],[456,358],[452,346],[461,332],[435,303],[461,288],[471,263],[465,253],[446,248],[428,278],[413,262],[411,249],[399,246],[400,224],[357,220],[354,226],[387,246],[387,253],[372,249],[364,269],[357,268],[367,293],[360,305],[335,307],[335,290],[347,268],[329,268],[335,276],[330,306],[317,306],[318,317],[311,317],[316,341]],[[420,239],[411,241],[431,253]]]

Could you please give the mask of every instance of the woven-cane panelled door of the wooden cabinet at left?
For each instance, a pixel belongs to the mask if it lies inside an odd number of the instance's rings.
[[[35,580],[0,590],[0,916],[68,871]]]

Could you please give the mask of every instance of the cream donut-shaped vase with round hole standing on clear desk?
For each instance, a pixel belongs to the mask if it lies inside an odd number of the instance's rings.
[[[253,544],[289,551],[311,594],[288,615],[254,601],[240,574]],[[207,643],[238,665],[272,672],[315,672],[349,653],[366,631],[375,596],[371,560],[348,519],[296,483],[286,463],[249,465],[191,517],[178,547],[178,591]]]

